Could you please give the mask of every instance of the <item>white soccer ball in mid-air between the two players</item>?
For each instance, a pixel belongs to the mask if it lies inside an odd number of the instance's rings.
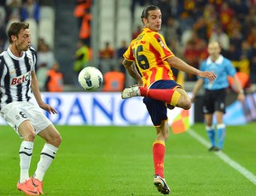
[[[94,66],[87,66],[79,72],[79,84],[86,90],[97,89],[102,83],[102,72]]]

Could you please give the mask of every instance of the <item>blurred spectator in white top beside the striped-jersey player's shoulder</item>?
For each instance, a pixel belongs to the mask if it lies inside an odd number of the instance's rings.
[[[52,64],[55,61],[55,55],[53,51],[49,49],[47,43],[40,43],[38,46],[38,66],[46,64],[47,68],[51,68]]]

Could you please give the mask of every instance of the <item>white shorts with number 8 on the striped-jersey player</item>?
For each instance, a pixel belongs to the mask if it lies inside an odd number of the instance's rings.
[[[44,115],[44,112],[29,101],[15,101],[9,103],[2,107],[0,114],[18,135],[18,128],[25,120],[31,122],[36,134],[52,124]]]

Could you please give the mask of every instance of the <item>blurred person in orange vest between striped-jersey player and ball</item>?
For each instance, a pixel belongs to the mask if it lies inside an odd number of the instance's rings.
[[[45,89],[49,92],[63,91],[63,75],[60,72],[60,66],[57,62],[55,62],[47,72]]]

